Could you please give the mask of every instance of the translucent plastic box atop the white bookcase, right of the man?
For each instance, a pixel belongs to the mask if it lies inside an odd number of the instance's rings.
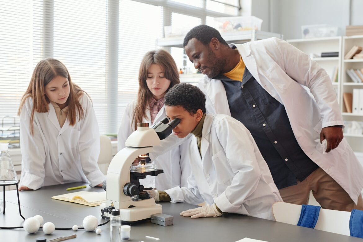
[[[328,24],[302,25],[301,34],[303,38],[322,38],[338,36],[338,27]]]

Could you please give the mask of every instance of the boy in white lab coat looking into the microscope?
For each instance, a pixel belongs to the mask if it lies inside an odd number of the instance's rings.
[[[222,212],[274,220],[272,205],[282,201],[269,168],[250,132],[228,115],[205,113],[205,95],[198,87],[181,83],[164,97],[166,115],[180,119],[174,135],[192,133],[187,187],[151,190],[156,201],[208,205],[182,212],[185,217],[217,217]]]

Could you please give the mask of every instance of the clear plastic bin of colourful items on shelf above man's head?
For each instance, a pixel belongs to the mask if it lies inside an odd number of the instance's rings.
[[[220,17],[214,18],[216,29],[223,32],[244,30],[261,30],[262,19],[255,16]]]

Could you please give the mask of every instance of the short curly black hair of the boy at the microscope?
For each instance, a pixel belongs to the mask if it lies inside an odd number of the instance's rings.
[[[164,96],[166,106],[181,106],[189,114],[195,114],[198,109],[205,114],[205,95],[196,86],[180,83],[172,87]]]

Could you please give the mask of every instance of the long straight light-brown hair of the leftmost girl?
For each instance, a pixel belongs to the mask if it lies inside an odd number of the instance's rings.
[[[78,120],[83,118],[83,109],[81,103],[79,103],[79,98],[85,93],[82,89],[72,83],[69,72],[65,65],[62,62],[53,59],[46,58],[45,60],[41,60],[36,65],[32,78],[30,79],[30,83],[28,89],[25,91],[23,97],[21,98],[18,115],[20,115],[21,108],[23,107],[27,98],[32,98],[33,108],[32,114],[30,115],[30,133],[34,135],[33,129],[33,119],[34,112],[48,112],[49,111],[49,99],[45,95],[45,86],[52,81],[57,76],[61,76],[68,79],[69,82],[69,97],[68,97],[68,120],[69,124],[73,126],[76,123],[77,112],[78,111]]]

